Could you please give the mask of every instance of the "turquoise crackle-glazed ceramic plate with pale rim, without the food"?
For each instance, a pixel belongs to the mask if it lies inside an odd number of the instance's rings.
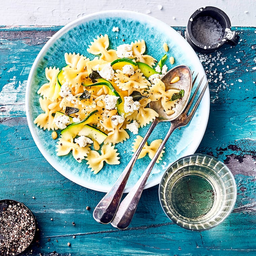
[[[119,27],[119,32],[113,32],[113,27]],[[116,145],[121,157],[119,165],[105,165],[98,174],[93,174],[85,160],[78,163],[71,153],[58,157],[57,141],[51,138],[51,131],[43,131],[33,123],[34,119],[42,113],[37,90],[46,82],[45,68],[50,66],[62,68],[65,65],[65,52],[80,53],[90,59],[93,58],[94,56],[87,52],[87,48],[90,42],[100,34],[108,35],[111,49],[116,49],[124,42],[131,43],[134,40],[144,39],[147,54],[157,60],[165,54],[163,43],[166,42],[169,46],[168,59],[173,56],[174,65],[186,64],[192,71],[199,73],[200,78],[205,75],[205,72],[196,53],[178,32],[159,20],[137,12],[116,10],[87,15],[63,27],[44,45],[32,66],[26,91],[26,113],[33,139],[45,159],[66,178],[84,187],[107,192],[131,159],[131,145],[136,135],[129,133],[130,139]],[[168,61],[166,64],[169,69],[174,66]],[[155,164],[146,188],[159,184],[162,174],[170,163],[195,152],[207,125],[209,109],[208,89],[190,124],[174,131],[167,141],[163,160]],[[143,136],[147,129],[148,127],[141,128],[139,135]],[[159,124],[149,138],[149,143],[154,139],[164,138],[168,129],[168,123]],[[137,160],[128,180],[126,192],[136,183],[149,162],[148,156]]]

